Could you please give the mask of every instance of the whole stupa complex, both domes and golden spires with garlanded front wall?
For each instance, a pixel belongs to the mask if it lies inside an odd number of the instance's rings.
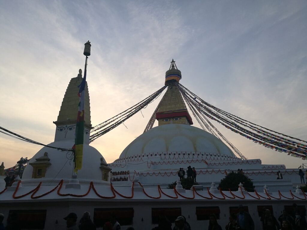
[[[128,226],[152,229],[157,226],[163,210],[172,223],[184,215],[192,229],[199,229],[208,226],[212,213],[216,214],[220,225],[225,226],[228,215],[237,213],[238,204],[242,204],[254,219],[255,229],[260,229],[264,208],[278,217],[283,209],[293,211],[292,204],[296,202],[299,210],[305,211],[306,194],[298,187],[292,188],[292,179],[279,180],[276,186],[270,182],[273,180],[266,181],[270,179],[266,169],[286,172],[283,165],[262,165],[259,159],[241,159],[215,136],[191,126],[192,119],[176,85],[181,72],[176,66],[171,66],[170,70],[165,81],[168,90],[156,114],[159,125],[140,135],[109,165],[99,151],[88,144],[92,126],[86,85],[84,154],[82,169],[77,174],[73,173],[72,153],[60,151],[74,144],[78,105],[74,95],[82,80],[81,71],[72,78],[54,122],[55,140],[49,144],[57,149],[43,147],[30,160],[22,179],[17,177],[11,186],[0,188],[4,225],[7,217],[10,220],[15,215],[23,229],[64,229],[63,217],[68,213],[76,213],[79,223],[82,214],[88,211],[99,228],[115,214],[122,229]],[[200,185],[185,190],[178,181],[174,189],[165,189],[166,184],[178,179],[179,167],[188,165],[197,169]],[[258,184],[255,192],[245,191],[242,184],[237,191],[218,190],[215,182],[232,168],[243,168],[251,172],[251,177],[264,172],[261,181],[266,184],[263,187]],[[127,179],[113,181],[117,176]]]

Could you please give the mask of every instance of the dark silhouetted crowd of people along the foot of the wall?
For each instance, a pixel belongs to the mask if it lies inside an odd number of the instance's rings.
[[[262,224],[262,230],[306,230],[307,223],[305,219],[305,211],[300,211],[296,204],[292,206],[292,213],[288,213],[283,210],[282,215],[278,217],[278,220],[274,217],[273,213],[269,209],[264,209],[260,218]],[[67,230],[95,230],[97,229],[93,221],[91,220],[91,214],[85,212],[81,217],[79,223],[76,213],[69,213],[63,218],[66,220]],[[0,213],[0,230],[21,230],[21,223],[18,221],[17,213],[10,215],[10,220],[4,227],[2,221],[4,215]],[[207,229],[204,227],[203,229]],[[229,215],[229,222],[225,226],[226,230],[255,230],[254,220],[248,212],[244,211],[243,205],[238,206],[237,214]],[[109,221],[103,224],[103,230],[121,230],[121,226],[117,221],[115,215],[109,218]],[[126,230],[134,230],[133,227],[128,227]],[[172,228],[172,223],[165,215],[165,212],[161,210],[159,213],[158,226],[152,230],[192,230],[190,224],[187,222],[184,216],[178,216],[175,220],[175,226]],[[215,214],[209,215],[208,230],[223,230],[218,223],[218,218]],[[258,229],[257,229],[258,230]]]

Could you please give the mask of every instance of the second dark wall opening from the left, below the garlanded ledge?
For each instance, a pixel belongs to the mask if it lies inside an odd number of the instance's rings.
[[[94,224],[97,228],[103,227],[103,224],[110,221],[112,215],[115,215],[120,225],[132,225],[134,217],[133,208],[105,208],[94,209]]]

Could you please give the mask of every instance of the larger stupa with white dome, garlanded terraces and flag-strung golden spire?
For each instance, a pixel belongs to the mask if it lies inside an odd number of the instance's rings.
[[[180,168],[186,171],[189,166],[195,167],[197,182],[205,187],[212,181],[219,184],[227,173],[238,168],[253,179],[256,189],[267,185],[274,191],[289,191],[300,184],[298,169],[262,165],[261,159],[243,159],[216,136],[192,126],[178,88],[181,78],[181,71],[172,60],[165,73],[168,88],[155,116],[158,126],[138,136],[119,159],[109,164],[114,186],[130,186],[131,181],[138,179],[145,187],[167,187],[178,180]],[[278,171],[284,175],[282,180],[276,180]]]

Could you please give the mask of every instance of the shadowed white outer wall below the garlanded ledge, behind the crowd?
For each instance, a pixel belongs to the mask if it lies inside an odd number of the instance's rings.
[[[300,201],[296,203],[298,205],[306,205],[306,201]],[[116,199],[108,200],[105,199],[84,199],[84,198],[67,198],[67,199],[56,199],[51,201],[36,200],[33,202],[28,201],[10,201],[1,204],[1,211],[5,215],[4,225],[6,225],[6,218],[10,210],[29,210],[29,209],[47,209],[45,228],[46,230],[54,229],[66,229],[65,220],[63,219],[68,213],[74,212],[78,216],[77,223],[79,223],[85,211],[91,213],[91,218],[94,216],[95,208],[133,208],[134,218],[133,227],[135,229],[152,229],[157,226],[152,224],[151,212],[152,208],[181,208],[181,215],[187,218],[187,221],[191,225],[192,229],[207,229],[209,220],[197,220],[196,207],[203,206],[218,206],[220,208],[220,219],[218,223],[224,228],[228,223],[229,207],[237,207],[239,204],[248,206],[249,213],[255,222],[255,229],[261,229],[260,217],[258,217],[259,205],[272,205],[274,210],[274,216],[276,218],[282,214],[284,205],[292,205],[293,201],[285,200],[280,202],[278,200],[268,201],[251,201],[251,200],[228,200],[227,202],[221,200],[176,200],[176,199],[144,199],[144,200],[127,200],[127,199]],[[143,219],[143,221],[142,221]],[[174,224],[173,224],[174,226]],[[172,227],[173,227],[172,226]],[[122,229],[126,229],[128,226],[122,226]],[[101,229],[101,228],[100,228]]]

